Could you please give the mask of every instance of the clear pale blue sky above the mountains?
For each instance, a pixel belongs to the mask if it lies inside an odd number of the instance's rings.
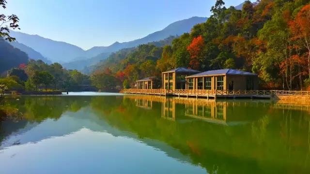
[[[224,0],[236,6],[244,0]],[[192,16],[210,16],[216,0],[7,0],[21,32],[83,49],[127,42]],[[2,13],[2,9],[1,12]]]

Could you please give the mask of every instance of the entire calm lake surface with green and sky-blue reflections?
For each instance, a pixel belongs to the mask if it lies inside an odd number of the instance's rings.
[[[0,174],[310,173],[310,106],[93,94],[1,102]]]

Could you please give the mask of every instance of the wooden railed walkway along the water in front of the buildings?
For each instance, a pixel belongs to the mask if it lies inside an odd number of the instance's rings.
[[[284,91],[284,90],[204,90],[204,89],[124,89],[124,93],[178,96],[196,98],[265,98],[272,99],[275,96],[302,96],[310,97],[310,91]]]

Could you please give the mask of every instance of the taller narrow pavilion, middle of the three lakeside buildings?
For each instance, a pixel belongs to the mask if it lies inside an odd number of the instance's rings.
[[[185,77],[192,74],[201,73],[200,71],[187,68],[176,68],[167,72],[161,73],[161,85],[163,89],[185,89]]]

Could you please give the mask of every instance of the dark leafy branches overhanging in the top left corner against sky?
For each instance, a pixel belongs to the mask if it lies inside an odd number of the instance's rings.
[[[6,0],[0,0],[0,6],[6,8]],[[18,17],[15,14],[6,16],[0,14],[0,40],[8,40],[9,42],[15,41],[14,37],[10,36],[10,29],[20,29],[18,26]]]

